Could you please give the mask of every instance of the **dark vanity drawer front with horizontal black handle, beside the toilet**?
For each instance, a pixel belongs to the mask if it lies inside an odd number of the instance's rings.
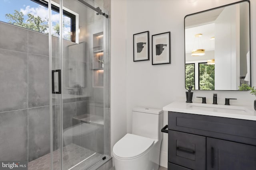
[[[186,168],[205,170],[206,137],[168,131],[168,162]]]

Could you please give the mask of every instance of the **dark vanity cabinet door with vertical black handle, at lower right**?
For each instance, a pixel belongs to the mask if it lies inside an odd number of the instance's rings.
[[[207,170],[255,170],[256,147],[215,138],[206,140]]]

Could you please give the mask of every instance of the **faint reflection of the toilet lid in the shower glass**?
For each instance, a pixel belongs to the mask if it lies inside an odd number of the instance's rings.
[[[73,140],[80,140],[81,137],[85,137],[99,129],[98,126],[88,124],[88,123],[80,123],[78,125],[74,125],[64,130],[63,140],[64,145],[69,145],[73,143]]]

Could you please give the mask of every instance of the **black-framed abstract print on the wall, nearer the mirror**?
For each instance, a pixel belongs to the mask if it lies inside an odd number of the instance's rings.
[[[171,32],[152,35],[152,65],[171,64]]]

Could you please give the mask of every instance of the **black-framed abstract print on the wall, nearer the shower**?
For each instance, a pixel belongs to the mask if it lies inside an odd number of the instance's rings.
[[[133,61],[149,60],[149,31],[133,35]]]

